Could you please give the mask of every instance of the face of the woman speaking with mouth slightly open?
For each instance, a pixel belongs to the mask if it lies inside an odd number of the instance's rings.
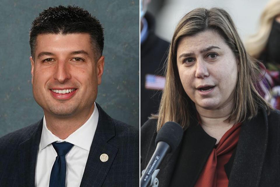
[[[183,88],[197,109],[217,110],[233,103],[238,60],[218,32],[182,38],[177,66]]]

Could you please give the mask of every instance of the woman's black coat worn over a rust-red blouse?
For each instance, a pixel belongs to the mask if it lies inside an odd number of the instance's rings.
[[[154,150],[156,120],[141,127],[141,171]],[[258,115],[241,125],[237,148],[225,171],[231,187],[280,186],[280,111]],[[184,131],[183,139],[173,154],[168,154],[157,175],[159,187],[194,186],[216,144],[197,122]]]

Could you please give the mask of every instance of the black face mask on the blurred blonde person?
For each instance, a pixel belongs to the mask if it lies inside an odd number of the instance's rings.
[[[280,64],[280,23],[273,22],[267,41],[267,61]]]

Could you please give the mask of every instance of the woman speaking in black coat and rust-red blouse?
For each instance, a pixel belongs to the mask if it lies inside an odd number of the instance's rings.
[[[256,90],[259,73],[226,11],[187,13],[171,40],[159,112],[141,128],[141,171],[173,121],[183,138],[161,163],[159,187],[280,186],[280,113]]]

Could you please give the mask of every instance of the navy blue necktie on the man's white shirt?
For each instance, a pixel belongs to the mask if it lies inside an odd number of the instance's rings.
[[[52,172],[50,173],[49,187],[65,187],[66,161],[65,155],[73,147],[72,143],[60,142],[52,143],[53,148],[57,153],[55,163],[53,164]]]

